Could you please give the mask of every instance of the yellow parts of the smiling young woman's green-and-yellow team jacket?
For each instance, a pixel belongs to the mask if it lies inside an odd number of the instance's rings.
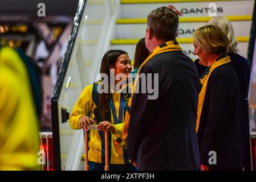
[[[70,127],[75,130],[79,130],[79,118],[83,115],[91,113],[92,105],[96,107],[92,102],[92,89],[93,84],[86,86],[78,101],[76,102],[72,113],[70,114]],[[119,106],[120,106],[120,93],[112,93],[113,102],[116,109],[117,117],[119,117]],[[124,115],[124,114],[123,114]],[[124,118],[123,118],[124,122]],[[111,123],[114,124],[114,119],[111,111]],[[115,139],[123,135],[123,123],[113,125],[116,127],[115,133],[111,134],[111,161],[110,164],[124,164],[124,142],[117,144]],[[101,163],[101,138],[97,131],[90,131],[90,140],[88,143],[88,160],[95,163]]]

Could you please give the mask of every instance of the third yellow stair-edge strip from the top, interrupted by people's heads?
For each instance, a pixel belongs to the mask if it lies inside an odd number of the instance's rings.
[[[112,39],[111,44],[137,44],[140,39]],[[248,42],[248,36],[237,36],[238,42]],[[180,44],[193,43],[193,38],[177,38],[177,42]]]

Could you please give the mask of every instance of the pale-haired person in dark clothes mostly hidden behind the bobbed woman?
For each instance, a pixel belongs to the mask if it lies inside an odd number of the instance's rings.
[[[239,83],[239,123],[241,127],[241,134],[243,137],[243,163],[245,164],[248,160],[246,159],[246,154],[250,154],[249,123],[247,123],[248,104],[246,101],[247,87],[250,80],[248,61],[245,59],[245,57],[242,57],[238,54],[239,49],[237,48],[237,39],[235,38],[233,26],[227,18],[225,18],[224,16],[215,16],[208,22],[208,24],[215,24],[216,26],[220,27],[229,39],[227,55],[229,55],[230,57],[231,64],[235,70],[235,74],[237,75]],[[204,73],[207,67],[202,65],[199,59],[197,59],[194,63],[196,64],[198,74],[201,77],[202,73]]]

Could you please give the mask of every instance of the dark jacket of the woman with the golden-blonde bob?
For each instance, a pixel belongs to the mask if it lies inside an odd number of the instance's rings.
[[[198,128],[201,164],[210,170],[242,166],[242,137],[239,125],[239,87],[231,63],[214,69],[209,77]],[[209,165],[209,152],[217,164]]]

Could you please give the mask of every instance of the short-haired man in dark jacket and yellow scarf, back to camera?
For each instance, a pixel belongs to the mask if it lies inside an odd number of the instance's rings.
[[[128,155],[138,170],[200,169],[196,135],[200,81],[193,61],[176,42],[177,28],[178,15],[168,7],[148,15],[145,44],[151,55],[139,68],[125,118],[128,128],[124,127]],[[139,78],[148,73],[158,77]],[[157,98],[149,99],[149,90],[136,92],[145,81],[157,90]]]

